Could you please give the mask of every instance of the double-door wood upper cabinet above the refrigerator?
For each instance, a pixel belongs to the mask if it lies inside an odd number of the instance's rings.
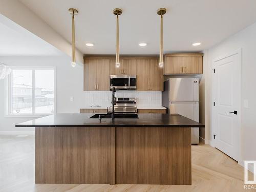
[[[200,73],[203,73],[203,54],[184,53],[165,55],[164,74]]]

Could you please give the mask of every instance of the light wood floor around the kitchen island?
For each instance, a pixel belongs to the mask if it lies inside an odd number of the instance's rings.
[[[0,136],[0,191],[255,191],[244,169],[209,145],[192,146],[192,185],[34,184],[34,136]]]

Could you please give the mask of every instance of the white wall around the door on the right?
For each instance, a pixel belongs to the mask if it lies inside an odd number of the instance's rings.
[[[205,74],[206,81],[206,113],[205,119],[209,122],[207,138],[212,139],[212,98],[211,76],[212,60],[223,55],[242,49],[242,72],[241,72],[241,151],[243,160],[256,160],[256,23],[238,32],[221,42],[219,45],[205,50],[208,52],[208,69]],[[210,96],[208,98],[208,96]],[[249,108],[243,107],[244,99],[249,100]]]

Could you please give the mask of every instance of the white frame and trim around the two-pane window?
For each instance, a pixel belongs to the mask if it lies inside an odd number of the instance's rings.
[[[11,70],[32,70],[32,113],[31,114],[13,114],[12,111],[12,71],[5,78],[5,116],[6,117],[44,117],[48,115],[56,114],[56,66],[52,67],[19,67],[19,66],[10,66]],[[53,70],[53,113],[35,113],[35,70]]]

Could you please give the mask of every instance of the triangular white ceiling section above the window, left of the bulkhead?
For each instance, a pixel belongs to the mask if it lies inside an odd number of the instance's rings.
[[[0,15],[0,56],[60,56],[58,49]]]

